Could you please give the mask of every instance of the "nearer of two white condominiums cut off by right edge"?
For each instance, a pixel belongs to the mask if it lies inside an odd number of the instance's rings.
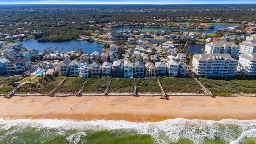
[[[256,53],[240,54],[237,70],[248,76],[256,76]]]

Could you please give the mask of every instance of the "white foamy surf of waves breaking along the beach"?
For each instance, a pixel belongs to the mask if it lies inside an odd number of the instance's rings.
[[[161,122],[128,122],[124,120],[56,120],[56,119],[17,119],[6,120],[0,118],[0,129],[8,130],[14,126],[55,129],[64,134],[66,130],[124,130],[125,132],[149,134],[158,144],[178,142],[180,138],[189,138],[195,144],[202,144],[205,140],[220,138],[226,142],[236,144],[245,136],[254,136],[256,120],[186,120],[176,118]],[[240,136],[241,135],[241,136]],[[85,133],[70,135],[67,140],[72,143],[80,140]],[[239,138],[238,138],[239,137]]]

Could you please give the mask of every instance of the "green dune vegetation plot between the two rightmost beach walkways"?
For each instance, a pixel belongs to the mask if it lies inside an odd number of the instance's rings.
[[[164,89],[164,92],[166,93],[204,93],[201,86],[192,78],[166,77],[159,78],[159,81],[162,85],[162,88]]]

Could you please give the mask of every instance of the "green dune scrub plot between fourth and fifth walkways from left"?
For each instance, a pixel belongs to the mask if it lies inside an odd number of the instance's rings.
[[[113,93],[116,93],[116,92],[132,93],[132,92],[134,92],[133,79],[131,79],[131,78],[113,78],[112,82],[110,84],[110,87],[108,89],[108,92],[113,92]]]

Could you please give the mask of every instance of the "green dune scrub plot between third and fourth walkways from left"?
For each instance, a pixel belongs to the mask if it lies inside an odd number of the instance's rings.
[[[103,93],[108,85],[110,77],[89,78],[82,93]]]

